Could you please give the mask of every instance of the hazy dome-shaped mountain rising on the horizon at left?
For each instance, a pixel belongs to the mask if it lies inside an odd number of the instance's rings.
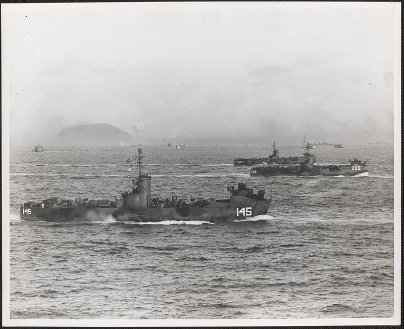
[[[135,143],[134,138],[109,123],[80,125],[62,129],[52,144],[78,146],[113,146]]]

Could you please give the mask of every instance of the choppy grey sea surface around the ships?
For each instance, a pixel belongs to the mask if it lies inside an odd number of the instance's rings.
[[[136,151],[10,151],[11,318],[393,316],[392,146],[313,150],[318,163],[366,160],[368,176],[268,178],[232,163],[267,156],[269,145],[146,146],[154,196],[223,198],[248,181],[270,193],[268,214],[223,224],[20,220],[27,201],[120,196]]]

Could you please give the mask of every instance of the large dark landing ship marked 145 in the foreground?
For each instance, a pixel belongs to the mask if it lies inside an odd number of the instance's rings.
[[[130,159],[136,161],[138,176],[132,181],[132,191],[122,193],[120,199],[50,198],[40,202],[26,202],[20,208],[21,219],[51,222],[97,221],[105,218],[137,222],[163,220],[218,222],[265,215],[268,212],[271,198],[265,198],[265,190],[255,194],[244,183],[238,183],[237,188],[227,186],[230,196],[222,200],[155,197],[151,194],[151,176],[141,172],[142,158],[142,149],[138,149],[137,157]]]

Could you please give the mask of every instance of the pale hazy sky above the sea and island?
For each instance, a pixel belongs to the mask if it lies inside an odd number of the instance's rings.
[[[173,143],[392,139],[393,7],[6,6],[12,144],[104,122]]]

